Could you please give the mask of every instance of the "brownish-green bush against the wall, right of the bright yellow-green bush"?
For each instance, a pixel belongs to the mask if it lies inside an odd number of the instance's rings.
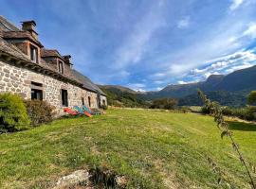
[[[46,124],[54,118],[54,108],[46,101],[26,100],[27,113],[30,117],[32,126]]]

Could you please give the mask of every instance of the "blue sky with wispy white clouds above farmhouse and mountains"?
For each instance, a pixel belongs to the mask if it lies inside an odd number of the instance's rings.
[[[140,91],[256,64],[256,0],[0,0],[94,82]]]

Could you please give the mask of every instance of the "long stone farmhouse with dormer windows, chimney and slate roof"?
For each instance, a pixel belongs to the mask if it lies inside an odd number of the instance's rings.
[[[46,100],[59,112],[76,105],[107,105],[101,89],[73,68],[70,55],[40,43],[35,26],[25,21],[20,29],[0,16],[0,93]]]

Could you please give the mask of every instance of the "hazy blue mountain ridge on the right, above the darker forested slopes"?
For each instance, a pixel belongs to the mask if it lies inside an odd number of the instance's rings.
[[[227,91],[238,94],[248,94],[250,91],[256,90],[256,66],[235,71],[227,76],[211,75],[206,81],[168,85],[159,92],[149,92],[145,94],[145,98],[182,98],[186,95],[195,94],[197,89],[201,89],[204,92]]]

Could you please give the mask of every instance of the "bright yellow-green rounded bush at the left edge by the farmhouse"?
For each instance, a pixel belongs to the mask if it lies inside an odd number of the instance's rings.
[[[29,123],[22,98],[17,94],[0,94],[0,132],[29,129]]]

